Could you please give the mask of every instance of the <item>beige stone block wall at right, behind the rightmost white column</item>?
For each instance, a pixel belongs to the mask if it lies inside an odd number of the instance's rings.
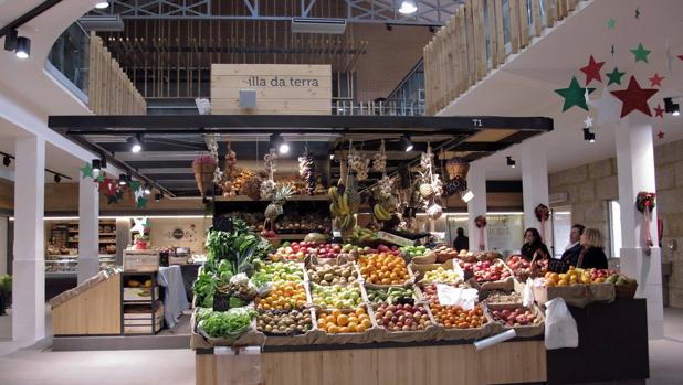
[[[672,263],[669,306],[683,308],[683,140],[654,148],[658,213],[664,224],[662,263]],[[605,232],[609,244],[607,201],[619,199],[614,158],[584,164],[548,177],[549,192],[568,194],[571,221]],[[675,249],[670,249],[670,242]]]

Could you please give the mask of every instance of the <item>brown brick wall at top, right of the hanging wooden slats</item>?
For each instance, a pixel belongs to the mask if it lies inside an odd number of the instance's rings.
[[[367,53],[356,63],[357,98],[371,101],[387,97],[422,57],[422,47],[432,39],[427,28],[354,25],[356,40],[369,41]]]

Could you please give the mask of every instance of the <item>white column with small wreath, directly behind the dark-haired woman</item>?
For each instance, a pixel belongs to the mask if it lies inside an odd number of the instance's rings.
[[[522,167],[522,194],[524,197],[524,227],[536,227],[544,234],[540,221],[536,218],[535,210],[539,204],[548,205],[548,159],[544,146],[536,141],[526,141],[521,147],[517,165]],[[519,235],[522,237],[522,235]],[[543,242],[553,244],[553,231],[549,221],[545,223]]]

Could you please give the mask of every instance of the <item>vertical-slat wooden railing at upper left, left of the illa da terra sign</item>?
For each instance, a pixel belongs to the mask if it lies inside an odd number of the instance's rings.
[[[87,99],[95,115],[147,114],[147,101],[94,33],[90,40]]]

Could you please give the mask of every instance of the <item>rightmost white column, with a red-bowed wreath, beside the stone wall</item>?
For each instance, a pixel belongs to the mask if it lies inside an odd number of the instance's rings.
[[[654,247],[648,250],[642,214],[635,208],[639,192],[655,192],[652,125],[649,118],[638,113],[621,119],[617,127],[617,169],[621,208],[621,271],[638,279],[635,296],[648,300],[648,335],[650,339],[661,339],[664,336],[664,307],[661,249],[656,247],[656,210],[652,212],[650,225]]]

